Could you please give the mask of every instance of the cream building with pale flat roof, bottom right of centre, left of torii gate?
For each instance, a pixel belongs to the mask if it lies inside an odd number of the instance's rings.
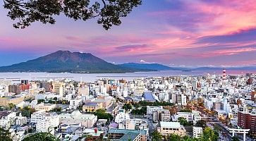
[[[165,122],[161,121],[160,125],[157,127],[157,131],[161,133],[161,135],[170,135],[170,134],[176,134],[184,136],[186,135],[186,130],[178,122]]]

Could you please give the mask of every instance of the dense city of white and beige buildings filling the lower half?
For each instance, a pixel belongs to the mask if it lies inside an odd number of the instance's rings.
[[[255,75],[0,80],[1,137],[253,140]]]

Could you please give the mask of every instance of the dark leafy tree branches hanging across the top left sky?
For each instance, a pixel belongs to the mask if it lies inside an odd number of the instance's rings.
[[[97,23],[109,30],[141,4],[142,0],[4,0],[7,16],[16,21],[16,28],[36,21],[54,24],[55,17],[63,14],[73,20],[97,18]]]

